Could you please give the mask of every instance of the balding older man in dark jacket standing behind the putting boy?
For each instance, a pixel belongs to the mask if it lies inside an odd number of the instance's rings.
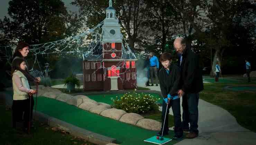
[[[198,101],[199,92],[203,90],[203,78],[199,68],[199,60],[195,52],[186,45],[185,39],[178,37],[174,48],[180,56],[181,89],[178,91],[182,99],[182,129],[190,131],[187,138],[198,136]],[[190,127],[189,127],[190,123]]]

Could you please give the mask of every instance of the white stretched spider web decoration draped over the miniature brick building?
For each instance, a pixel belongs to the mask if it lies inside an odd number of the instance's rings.
[[[104,79],[108,68],[104,67],[103,52],[105,54],[110,53],[111,55],[112,52],[118,52],[118,50],[116,50],[115,48],[112,48],[111,50],[108,50],[108,51],[103,50],[102,43],[101,43],[102,36],[103,36],[103,31],[101,28],[103,25],[104,25],[104,20],[100,22],[97,26],[79,35],[53,41],[53,42],[47,42],[47,43],[42,43],[38,45],[31,45],[30,52],[33,54],[34,63],[31,69],[29,70],[30,73],[34,74],[35,76],[43,76],[45,70],[42,69],[42,66],[40,66],[40,63],[38,61],[38,57],[41,55],[42,56],[47,55],[47,57],[49,57],[49,55],[51,54],[58,54],[60,56],[62,56],[63,54],[72,54],[80,58],[83,57],[83,60],[101,61],[101,63],[103,63],[103,66],[98,69],[103,68],[103,79]],[[121,38],[123,40],[122,50],[121,50],[122,54],[121,54],[121,57],[116,56],[117,59],[122,59],[124,61],[136,60],[135,54],[132,52],[128,43],[126,42],[126,40],[122,35],[121,35]],[[108,45],[107,47],[109,47],[111,43],[109,44],[105,43],[105,45]],[[5,47],[5,50],[7,50],[8,48],[10,47]],[[1,52],[2,51],[0,51],[0,53]],[[12,54],[6,53],[4,54],[4,57],[0,57],[0,60],[7,59],[9,64],[11,65],[11,62],[10,62],[11,57],[12,57]],[[38,65],[39,70],[34,69],[35,65]],[[125,65],[123,62],[119,62],[116,67],[125,68]],[[131,72],[130,68],[126,68],[125,70],[126,70],[125,72]],[[93,73],[95,73],[95,71]],[[125,72],[120,73],[120,76],[123,76],[123,77],[120,77],[122,81],[125,81],[124,79]],[[133,73],[136,73],[136,72],[133,72]],[[136,83],[133,85],[136,86]]]

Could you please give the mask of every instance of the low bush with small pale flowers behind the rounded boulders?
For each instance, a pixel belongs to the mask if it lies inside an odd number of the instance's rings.
[[[150,94],[126,93],[120,98],[111,98],[113,108],[125,110],[127,113],[144,114],[150,111],[158,110],[159,104],[157,101],[160,98]]]

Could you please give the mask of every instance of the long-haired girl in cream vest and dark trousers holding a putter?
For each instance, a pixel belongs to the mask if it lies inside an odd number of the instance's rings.
[[[16,58],[13,60],[11,75],[13,85],[13,103],[12,103],[12,117],[13,127],[16,127],[16,122],[22,121],[22,115],[24,112],[24,129],[27,128],[28,122],[31,121],[33,108],[30,108],[30,99],[33,97],[30,94],[35,94],[36,91],[30,89],[28,79],[26,77],[26,62],[23,58]],[[31,112],[29,112],[29,110]],[[29,117],[29,114],[31,115]]]

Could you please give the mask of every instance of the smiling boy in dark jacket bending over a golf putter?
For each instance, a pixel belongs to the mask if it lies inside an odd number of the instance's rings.
[[[178,140],[183,137],[183,130],[181,127],[181,106],[180,106],[180,98],[178,97],[177,91],[180,89],[180,77],[181,72],[180,68],[176,65],[172,64],[172,57],[170,53],[164,52],[160,61],[163,67],[159,70],[158,79],[160,84],[160,89],[162,93],[163,100],[163,108],[162,108],[162,127],[161,131],[157,134],[158,136],[167,135],[168,128],[168,114],[169,109],[172,106],[172,111],[174,115],[174,132],[175,136],[173,139]],[[167,112],[166,107],[168,104]],[[166,118],[165,118],[165,113]],[[165,124],[164,124],[165,120]]]

